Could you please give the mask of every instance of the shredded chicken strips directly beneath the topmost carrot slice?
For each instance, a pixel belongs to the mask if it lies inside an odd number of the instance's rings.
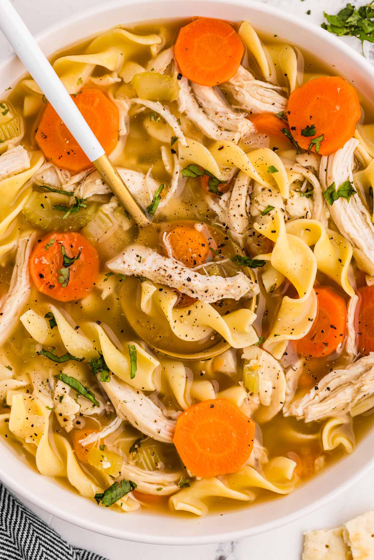
[[[185,113],[187,117],[196,124],[204,132],[205,136],[214,140],[230,140],[238,143],[244,135],[255,132],[255,127],[252,123],[246,125],[243,123],[239,129],[239,119],[230,106],[221,96],[214,90],[214,88],[207,87],[209,95],[206,90],[202,89],[204,86],[196,88],[197,94],[193,91],[188,83],[187,78],[179,80],[179,97],[178,97],[178,110],[180,113]],[[210,101],[207,100],[207,98]],[[199,105],[199,102],[202,106]],[[214,105],[211,105],[214,104]],[[218,108],[218,111],[216,111]],[[246,122],[249,121],[247,119]],[[224,123],[224,124],[223,124]]]

